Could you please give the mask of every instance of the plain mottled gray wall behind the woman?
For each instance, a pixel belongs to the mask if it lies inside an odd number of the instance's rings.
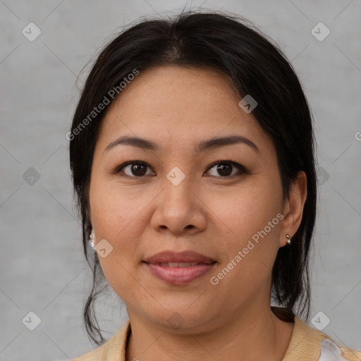
[[[82,324],[90,271],[65,136],[89,66],[82,68],[138,17],[199,6],[252,20],[279,43],[305,87],[323,183],[311,313],[324,312],[331,321],[324,332],[361,350],[360,1],[0,0],[0,360],[68,360],[92,349]],[[33,42],[22,34],[30,22],[42,31]],[[331,30],[322,42],[311,33],[319,22]],[[30,167],[40,175],[32,185],[23,178]],[[112,291],[101,304],[109,339],[126,309]],[[34,331],[22,322],[30,311],[41,319]]]

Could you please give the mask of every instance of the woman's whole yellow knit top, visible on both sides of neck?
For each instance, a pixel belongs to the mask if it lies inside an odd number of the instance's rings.
[[[282,361],[361,360],[360,351],[338,345],[332,338],[308,326],[298,317],[294,318],[294,322],[295,326],[293,327],[290,344]],[[75,358],[73,361],[125,361],[126,345],[130,332],[131,328],[128,319],[108,342],[90,351],[90,353]],[[331,340],[332,342],[324,341],[324,339]],[[336,353],[332,353],[331,355],[337,355],[337,353],[340,355],[338,357],[330,357],[330,354],[327,353],[329,348],[336,350]],[[321,353],[322,357],[320,357]]]

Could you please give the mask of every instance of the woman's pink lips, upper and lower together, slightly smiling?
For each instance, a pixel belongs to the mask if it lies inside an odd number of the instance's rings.
[[[206,274],[214,259],[197,252],[159,252],[145,259],[145,265],[157,278],[173,285],[183,285]]]

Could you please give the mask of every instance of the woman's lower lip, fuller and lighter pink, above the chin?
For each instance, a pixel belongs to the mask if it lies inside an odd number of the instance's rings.
[[[214,263],[211,264],[196,264],[195,266],[190,267],[164,267],[160,264],[152,264],[145,262],[145,265],[148,267],[149,271],[166,283],[172,285],[184,285],[195,281],[204,274],[207,274],[213,267]]]

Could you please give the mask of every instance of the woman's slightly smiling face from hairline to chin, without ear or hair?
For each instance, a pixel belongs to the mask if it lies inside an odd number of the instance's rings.
[[[269,306],[288,233],[281,178],[273,142],[238,102],[224,75],[169,66],[140,72],[109,107],[90,212],[101,267],[130,317],[202,330]],[[239,138],[209,142],[221,137]],[[163,251],[173,258],[151,259]]]

